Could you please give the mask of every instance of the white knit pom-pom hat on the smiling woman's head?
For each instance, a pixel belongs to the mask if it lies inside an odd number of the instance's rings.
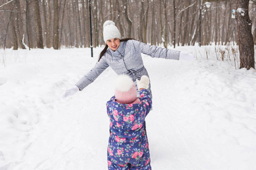
[[[112,20],[107,20],[103,25],[103,39],[106,42],[115,38],[121,39],[121,34],[115,27],[115,23]]]

